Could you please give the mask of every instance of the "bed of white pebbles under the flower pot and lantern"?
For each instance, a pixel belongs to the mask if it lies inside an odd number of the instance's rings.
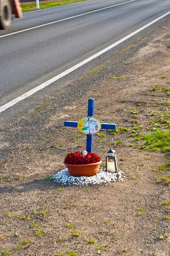
[[[60,183],[61,185],[91,185],[91,184],[102,184],[110,183],[116,180],[123,181],[125,176],[124,172],[119,171],[118,173],[105,172],[102,169],[99,169],[99,172],[91,177],[74,177],[71,176],[68,172],[68,169],[64,169],[55,175],[52,176],[55,182]]]

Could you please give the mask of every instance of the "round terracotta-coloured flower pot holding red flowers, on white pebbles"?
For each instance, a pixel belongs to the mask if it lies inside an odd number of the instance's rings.
[[[91,177],[96,175],[96,173],[99,171],[99,166],[102,161],[98,163],[89,163],[89,164],[66,164],[68,168],[68,172],[70,175],[74,177],[81,177],[81,176],[86,176],[86,177]]]

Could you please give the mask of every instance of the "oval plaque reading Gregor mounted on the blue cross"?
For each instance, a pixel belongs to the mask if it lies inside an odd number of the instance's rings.
[[[102,124],[98,119],[86,116],[79,120],[77,128],[84,134],[95,134],[100,131]]]

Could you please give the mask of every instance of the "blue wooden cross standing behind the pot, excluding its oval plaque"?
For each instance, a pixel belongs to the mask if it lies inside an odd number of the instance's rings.
[[[94,99],[88,99],[88,116],[94,116]],[[64,126],[77,127],[78,122],[65,121]],[[102,129],[116,129],[116,124],[102,123]],[[86,151],[92,153],[93,134],[87,134]]]

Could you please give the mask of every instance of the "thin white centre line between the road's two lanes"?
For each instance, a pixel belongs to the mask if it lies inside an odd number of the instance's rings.
[[[112,8],[112,7],[115,7],[115,6],[119,6],[119,5],[122,5],[122,4],[125,4],[125,3],[134,2],[134,1],[136,1],[136,0],[130,0],[130,1],[127,1],[127,2],[124,2],[124,3],[118,3],[118,4],[115,4],[113,6],[108,6],[108,7],[102,8],[102,9],[94,10],[92,12],[82,13],[82,14],[75,15],[75,16],[72,16],[72,17],[68,17],[68,18],[65,18],[65,19],[62,19],[62,20],[56,20],[56,21],[46,23],[46,24],[43,24],[43,25],[40,25],[40,26],[35,26],[35,27],[29,28],[29,29],[24,29],[24,30],[20,30],[20,31],[17,31],[17,32],[13,32],[13,33],[10,33],[10,34],[7,34],[7,35],[1,35],[0,38],[6,37],[6,36],[9,36],[9,35],[18,34],[18,33],[21,33],[21,32],[26,32],[26,31],[31,30],[31,29],[37,29],[37,28],[40,28],[42,26],[48,26],[48,25],[58,23],[58,22],[61,22],[61,21],[64,21],[64,20],[70,20],[70,19],[73,19],[73,18],[76,18],[76,17],[80,17],[80,16],[83,16],[83,15],[93,13],[93,12],[99,12],[99,11],[102,11],[102,10],[105,10],[105,9],[109,9],[109,8]]]

